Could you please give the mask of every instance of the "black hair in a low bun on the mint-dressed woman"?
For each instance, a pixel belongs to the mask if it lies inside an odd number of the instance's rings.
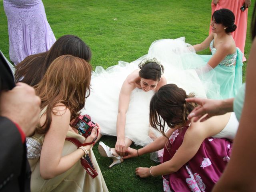
[[[229,9],[220,9],[214,11],[212,14],[212,20],[213,18],[216,23],[222,24],[226,27],[226,33],[231,33],[236,30],[235,15]]]

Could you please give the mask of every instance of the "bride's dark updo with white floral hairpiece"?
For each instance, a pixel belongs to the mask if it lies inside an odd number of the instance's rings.
[[[159,81],[164,73],[164,67],[156,58],[146,58],[139,64],[139,75],[144,79]]]

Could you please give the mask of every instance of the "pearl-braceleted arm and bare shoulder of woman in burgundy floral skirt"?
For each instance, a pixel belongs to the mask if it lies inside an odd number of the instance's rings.
[[[186,162],[188,162],[197,153],[205,138],[213,136],[220,132],[228,120],[228,115],[221,117],[212,117],[205,122],[192,122],[186,130],[183,142],[178,148],[174,156],[158,166],[151,168],[151,173],[154,176],[171,174],[178,171]],[[214,125],[214,126],[213,126]],[[196,139],[194,139],[196,137]],[[136,168],[136,175],[145,178],[150,176],[149,168]]]

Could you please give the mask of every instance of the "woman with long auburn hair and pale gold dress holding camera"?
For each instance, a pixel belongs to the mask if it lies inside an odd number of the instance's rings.
[[[67,70],[68,69],[68,70]],[[107,191],[106,184],[91,150],[92,144],[76,148],[66,137],[90,143],[99,125],[86,139],[70,126],[78,117],[90,94],[92,67],[82,58],[63,55],[50,64],[36,85],[41,98],[41,117],[33,136],[27,138],[32,191]],[[80,158],[90,155],[98,172],[94,179],[86,175]]]

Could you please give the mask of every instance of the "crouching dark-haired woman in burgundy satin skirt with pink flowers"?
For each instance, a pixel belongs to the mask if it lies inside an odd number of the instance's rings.
[[[236,134],[234,114],[190,124],[187,117],[196,105],[185,99],[192,96],[175,84],[162,86],[150,102],[150,125],[163,136],[139,150],[126,150],[124,159],[164,148],[162,164],[136,168],[142,178],[162,175],[164,191],[210,191],[230,159],[232,142],[226,138]]]

